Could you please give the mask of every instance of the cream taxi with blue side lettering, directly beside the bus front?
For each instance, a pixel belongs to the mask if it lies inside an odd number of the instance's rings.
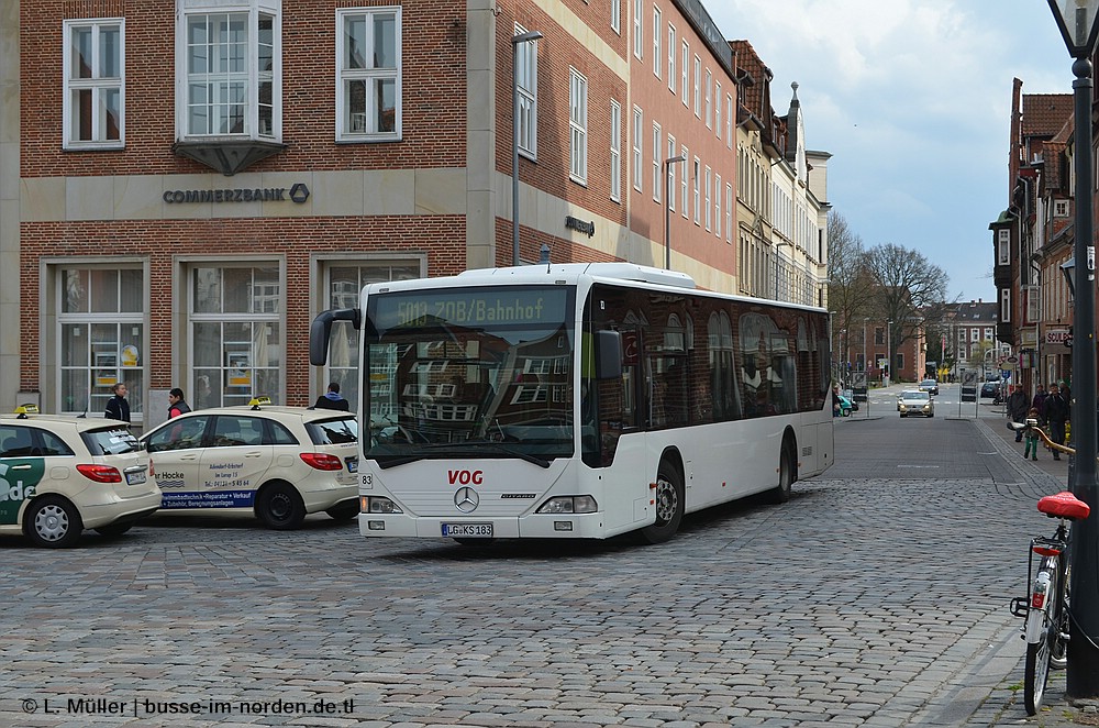
[[[253,514],[276,530],[358,515],[355,416],[269,401],[187,412],[141,437],[162,512]]]

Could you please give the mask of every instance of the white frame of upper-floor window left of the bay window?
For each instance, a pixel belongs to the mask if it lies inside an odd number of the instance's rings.
[[[91,31],[91,57],[93,63],[92,75],[88,78],[74,78],[71,74],[74,59],[74,33],[78,30],[88,29]],[[102,56],[102,34],[108,29],[116,29],[119,34],[119,57],[115,59],[119,68],[119,76],[99,76],[97,71],[101,69]],[[62,93],[62,148],[64,150],[115,150],[124,148],[126,144],[126,21],[125,18],[87,18],[69,19],[63,22],[63,48],[62,67],[64,68],[63,93]],[[109,139],[106,135],[103,118],[99,113],[106,111],[102,97],[110,91],[118,92],[118,139]],[[73,139],[77,125],[73,114],[76,113],[77,104],[73,100],[76,92],[91,92],[91,139]]]

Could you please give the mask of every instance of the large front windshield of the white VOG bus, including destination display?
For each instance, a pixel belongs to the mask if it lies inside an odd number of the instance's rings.
[[[548,466],[570,456],[574,293],[556,285],[370,295],[366,457],[386,467],[481,454]]]

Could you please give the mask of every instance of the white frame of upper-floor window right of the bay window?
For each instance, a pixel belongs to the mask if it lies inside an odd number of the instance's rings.
[[[377,15],[393,15],[393,55],[396,67],[389,68],[356,68],[343,67],[343,58],[347,34],[344,32],[345,25],[351,18],[363,16],[367,23]],[[376,142],[399,142],[403,139],[403,41],[402,41],[403,16],[401,5],[377,5],[369,8],[337,8],[335,22],[335,137],[338,143],[376,143]],[[373,43],[374,36],[367,36],[367,43]],[[526,44],[524,44],[526,45]],[[365,57],[371,57],[370,47],[366,48]],[[535,58],[535,66],[537,60]],[[346,84],[351,81],[376,82],[392,80],[393,82],[393,130],[378,131],[371,130],[371,119],[377,119],[377,110],[369,107],[363,112],[363,130],[352,129],[351,113],[347,110],[348,99]],[[374,97],[367,93],[367,99]],[[537,102],[537,80],[535,77],[535,103]],[[536,136],[536,132],[535,132]],[[535,150],[536,152],[536,150]]]

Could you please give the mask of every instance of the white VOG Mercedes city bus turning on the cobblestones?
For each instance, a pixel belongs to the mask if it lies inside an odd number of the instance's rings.
[[[832,464],[828,311],[625,263],[379,283],[359,329],[367,537],[671,538]]]

